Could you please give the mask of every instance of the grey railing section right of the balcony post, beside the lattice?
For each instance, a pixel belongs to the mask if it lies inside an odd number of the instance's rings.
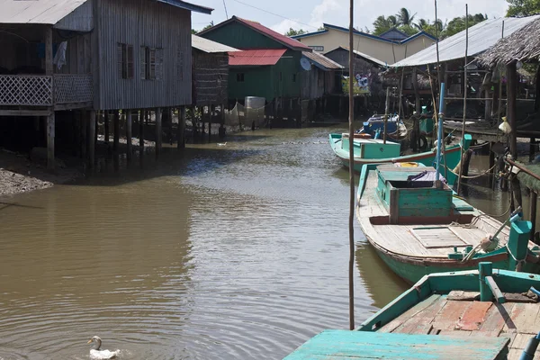
[[[54,103],[90,103],[94,101],[92,75],[54,76]]]

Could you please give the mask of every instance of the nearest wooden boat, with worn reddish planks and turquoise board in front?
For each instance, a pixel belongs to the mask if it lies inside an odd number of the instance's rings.
[[[358,329],[324,330],[286,360],[533,359],[540,276],[478,270],[424,276]]]

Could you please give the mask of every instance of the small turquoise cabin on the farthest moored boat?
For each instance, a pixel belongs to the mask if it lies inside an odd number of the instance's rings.
[[[358,138],[356,137],[358,136]],[[365,139],[365,134],[355,134],[355,157],[362,158],[392,158],[400,157],[401,145],[396,142],[386,141],[383,139]],[[349,134],[343,133],[341,147],[348,151],[349,149]]]

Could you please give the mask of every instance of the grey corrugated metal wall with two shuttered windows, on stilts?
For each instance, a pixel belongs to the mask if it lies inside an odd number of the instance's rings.
[[[172,107],[192,103],[191,12],[148,0],[94,0],[99,49],[98,110]],[[118,43],[133,45],[134,78],[122,79]],[[141,79],[142,47],[163,49],[163,76]]]

